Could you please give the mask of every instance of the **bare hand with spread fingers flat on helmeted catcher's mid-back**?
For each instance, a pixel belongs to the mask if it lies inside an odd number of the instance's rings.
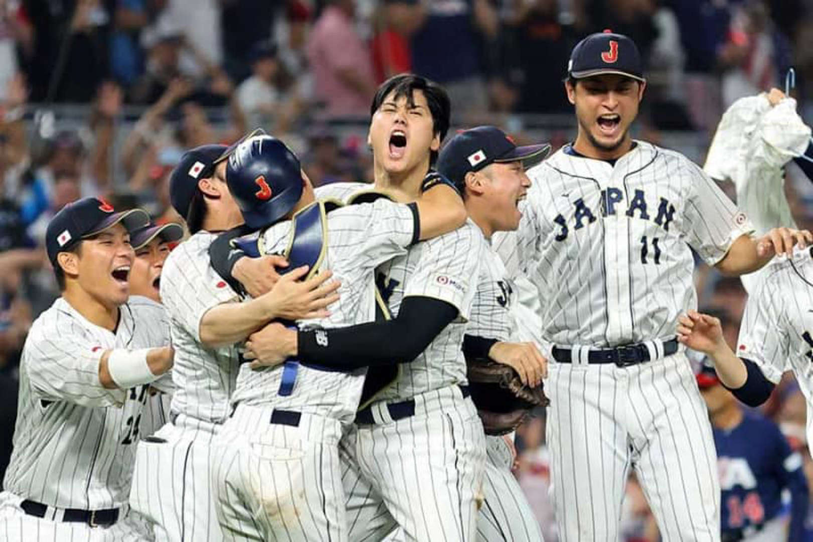
[[[341,283],[330,280],[333,278],[330,270],[300,281],[307,271],[308,266],[302,265],[282,275],[272,291],[262,296],[270,304],[275,318],[303,320],[330,316],[328,305],[338,301],[336,291]]]

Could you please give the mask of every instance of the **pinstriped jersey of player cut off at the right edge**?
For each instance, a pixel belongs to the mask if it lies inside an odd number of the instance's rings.
[[[737,347],[737,356],[754,361],[765,377],[774,383],[779,382],[785,371],[793,371],[807,400],[808,443],[813,443],[811,285],[811,249],[797,250],[790,260],[773,260],[757,290],[748,297]]]

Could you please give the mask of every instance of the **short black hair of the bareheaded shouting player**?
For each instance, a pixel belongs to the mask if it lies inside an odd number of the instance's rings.
[[[440,136],[442,142],[443,138],[446,138],[446,132],[449,131],[451,101],[449,94],[446,94],[446,90],[441,85],[429,81],[426,77],[416,76],[412,73],[401,73],[381,83],[378,90],[376,90],[375,97],[372,98],[370,116],[376,114],[378,108],[381,107],[381,103],[384,103],[384,99],[389,94],[393,94],[393,98],[396,99],[406,98],[406,103],[414,105],[413,95],[415,90],[424,93],[429,112],[432,114],[433,133]],[[434,164],[435,160],[437,160],[437,151],[432,151],[430,163]]]

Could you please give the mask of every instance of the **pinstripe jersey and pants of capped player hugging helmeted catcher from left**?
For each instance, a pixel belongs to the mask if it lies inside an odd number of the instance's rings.
[[[200,341],[200,321],[210,308],[237,295],[209,265],[215,234],[198,232],[167,257],[161,299],[169,315],[175,391],[158,441],[138,444],[130,504],[152,525],[157,540],[222,540],[209,488],[212,435],[228,416],[237,379],[237,348]]]

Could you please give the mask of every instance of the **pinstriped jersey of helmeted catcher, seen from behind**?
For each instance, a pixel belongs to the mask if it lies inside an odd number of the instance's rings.
[[[281,254],[288,247],[292,222],[273,225],[263,232],[267,254]],[[336,304],[330,316],[298,322],[300,326],[325,329],[374,321],[376,265],[406,253],[415,235],[415,216],[403,204],[379,199],[359,203],[328,213],[328,244],[320,269],[333,270],[341,281]],[[282,367],[254,370],[242,365],[237,377],[233,402],[267,404],[276,408],[293,407],[304,413],[319,413],[352,419],[359,405],[365,369],[341,373],[300,366],[293,393],[277,396]]]

